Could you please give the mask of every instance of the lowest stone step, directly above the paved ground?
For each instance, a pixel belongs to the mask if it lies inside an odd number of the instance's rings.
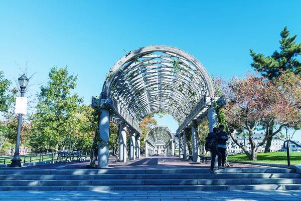
[[[0,190],[301,190],[300,184],[227,184],[227,185],[77,185],[77,186],[24,186],[0,185]]]

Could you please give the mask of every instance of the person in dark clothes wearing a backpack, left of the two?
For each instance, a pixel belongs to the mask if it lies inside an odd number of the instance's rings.
[[[218,142],[218,133],[220,132],[219,128],[213,128],[213,132],[210,132],[206,137],[205,149],[206,151],[211,152],[211,165],[210,165],[210,173],[216,173],[214,169],[215,157],[218,156],[218,169],[225,169],[222,167],[222,154],[218,152],[217,142]]]

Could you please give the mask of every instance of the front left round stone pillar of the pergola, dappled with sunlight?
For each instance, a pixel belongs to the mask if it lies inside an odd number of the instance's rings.
[[[99,139],[107,142],[110,137],[110,112],[108,109],[102,110],[99,121]],[[97,167],[109,167],[109,145],[98,142],[98,163]]]

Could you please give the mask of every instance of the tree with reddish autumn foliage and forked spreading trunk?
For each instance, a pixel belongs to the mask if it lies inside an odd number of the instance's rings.
[[[227,117],[227,131],[250,160],[256,160],[258,151],[267,139],[280,132],[283,126],[294,127],[300,124],[301,78],[298,75],[282,73],[272,83],[263,77],[247,74],[241,80],[232,78],[224,87],[227,105],[223,112]],[[272,121],[278,125],[278,129],[255,144],[253,131],[263,122],[268,129]],[[248,131],[251,153],[238,143],[234,136],[237,130]]]

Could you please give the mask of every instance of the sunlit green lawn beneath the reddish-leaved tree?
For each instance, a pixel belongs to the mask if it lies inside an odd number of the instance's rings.
[[[289,152],[290,164],[301,164],[301,152]],[[287,164],[286,152],[258,153],[257,161],[251,161],[246,154],[229,155],[228,160]]]

